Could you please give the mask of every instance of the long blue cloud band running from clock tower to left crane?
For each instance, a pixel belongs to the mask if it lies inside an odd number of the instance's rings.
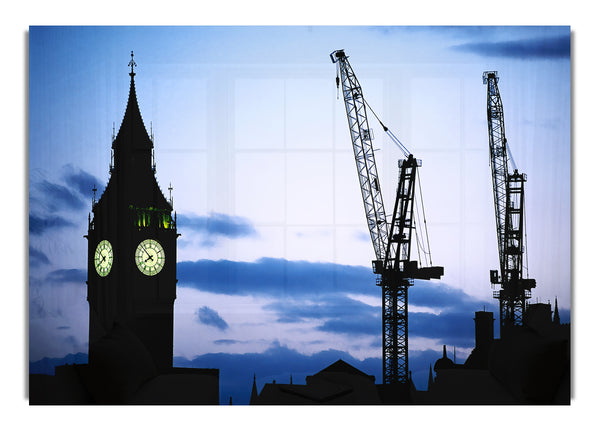
[[[378,294],[375,276],[362,266],[261,258],[183,261],[177,264],[181,285],[225,295],[306,298],[331,292]]]

